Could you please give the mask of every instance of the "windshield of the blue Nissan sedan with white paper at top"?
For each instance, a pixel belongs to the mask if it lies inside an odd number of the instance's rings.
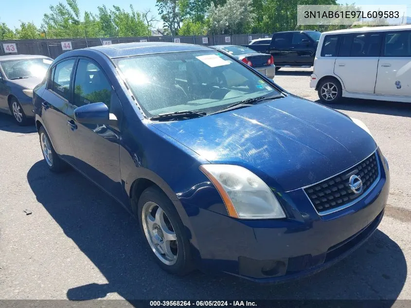
[[[196,110],[213,113],[248,98],[279,91],[217,51],[113,59],[148,117]]]

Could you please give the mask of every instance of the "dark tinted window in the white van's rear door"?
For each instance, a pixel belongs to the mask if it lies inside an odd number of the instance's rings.
[[[379,56],[380,46],[380,34],[356,34],[353,38],[350,56]]]

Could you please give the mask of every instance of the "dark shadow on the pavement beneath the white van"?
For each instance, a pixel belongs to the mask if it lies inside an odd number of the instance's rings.
[[[322,104],[321,100],[316,103]],[[375,101],[370,99],[357,99],[343,97],[338,104],[326,104],[325,106],[347,111],[358,111],[367,113],[378,113],[395,115],[401,117],[411,117],[411,104],[400,102]]]

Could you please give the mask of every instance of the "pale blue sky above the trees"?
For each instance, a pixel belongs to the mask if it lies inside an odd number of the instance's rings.
[[[59,1],[65,2],[65,0],[3,0],[0,9],[0,22],[5,22],[10,28],[14,29],[19,25],[19,20],[23,21],[33,21],[36,26],[40,26],[41,20],[43,19],[43,14],[49,11],[50,5],[55,5]],[[352,1],[338,1],[339,3],[346,3]],[[387,5],[387,4],[406,4],[409,1],[406,0],[361,0],[355,1],[356,4],[367,4],[367,5]],[[89,11],[91,13],[96,13],[97,6],[102,5],[100,1],[93,0],[77,0],[80,7],[80,11]],[[155,7],[156,0],[143,0],[143,1],[133,1],[133,0],[105,0],[104,4],[107,7],[112,7],[113,4],[119,5],[120,7],[128,10],[130,3],[133,4],[134,8],[138,11],[143,11],[144,9],[150,8],[151,11],[158,17],[158,11]],[[408,16],[411,16],[411,5],[408,5]],[[157,19],[160,19],[158,17]],[[162,26],[162,22],[159,22],[159,27]]]

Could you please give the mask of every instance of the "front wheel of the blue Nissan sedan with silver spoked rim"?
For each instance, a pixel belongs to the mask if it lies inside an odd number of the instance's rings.
[[[193,270],[190,243],[173,203],[158,187],[145,189],[138,218],[150,251],[166,272],[185,275]]]

